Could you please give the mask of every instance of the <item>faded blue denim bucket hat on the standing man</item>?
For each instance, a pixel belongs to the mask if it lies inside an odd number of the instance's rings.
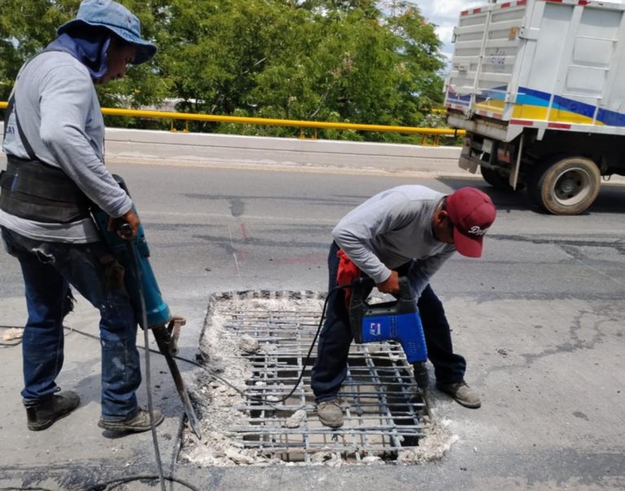
[[[63,34],[79,25],[106,27],[124,41],[137,47],[133,65],[149,61],[156,54],[156,46],[141,39],[141,22],[126,7],[111,0],[84,0],[73,21],[66,22],[56,32]]]

